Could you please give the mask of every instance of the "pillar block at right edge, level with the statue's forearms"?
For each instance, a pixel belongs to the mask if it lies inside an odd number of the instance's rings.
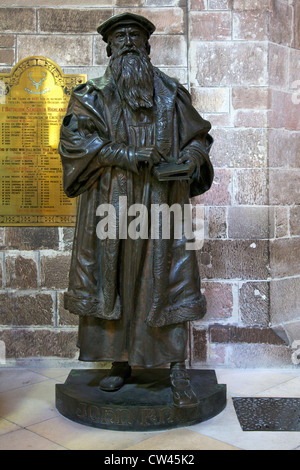
[[[300,133],[286,129],[269,130],[269,165],[274,168],[299,168]]]

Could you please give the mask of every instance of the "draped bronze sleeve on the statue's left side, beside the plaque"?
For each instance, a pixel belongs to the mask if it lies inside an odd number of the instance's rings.
[[[59,153],[68,197],[76,197],[89,189],[105,167],[118,166],[138,173],[134,147],[110,139],[106,117],[97,101],[99,97],[93,90],[85,85],[79,87],[63,119]]]

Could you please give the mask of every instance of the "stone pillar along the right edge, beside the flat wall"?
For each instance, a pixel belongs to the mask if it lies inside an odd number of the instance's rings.
[[[273,3],[269,45],[270,320],[291,346],[300,344],[299,7]]]

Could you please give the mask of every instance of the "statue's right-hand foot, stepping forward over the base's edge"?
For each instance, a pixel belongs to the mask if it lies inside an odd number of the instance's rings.
[[[198,397],[192,388],[188,371],[184,365],[171,368],[170,380],[175,406],[184,408],[198,405]]]

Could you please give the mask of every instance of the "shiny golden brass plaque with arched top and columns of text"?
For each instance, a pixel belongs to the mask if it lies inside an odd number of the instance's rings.
[[[0,226],[72,226],[76,199],[64,194],[59,133],[71,91],[86,75],[65,75],[29,57],[0,74]]]

